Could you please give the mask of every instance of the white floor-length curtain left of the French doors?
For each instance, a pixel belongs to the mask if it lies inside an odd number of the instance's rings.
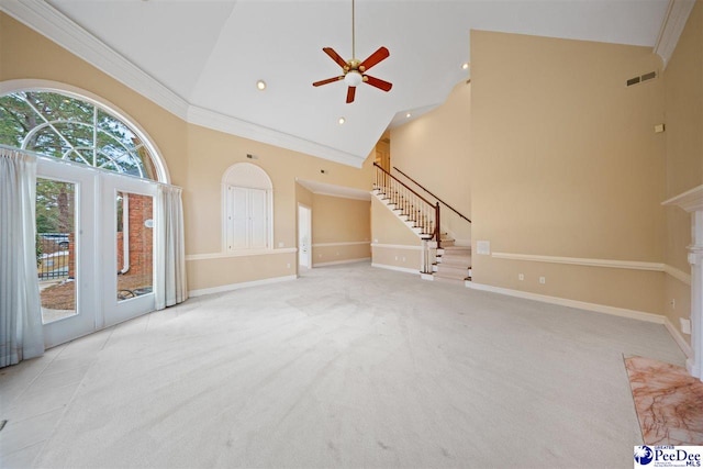
[[[36,157],[0,148],[0,368],[44,354],[35,194]]]

